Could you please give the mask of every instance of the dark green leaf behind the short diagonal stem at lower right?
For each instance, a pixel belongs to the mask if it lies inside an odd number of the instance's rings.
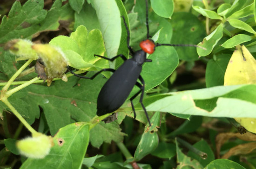
[[[190,151],[188,152],[188,156],[192,157],[193,159],[196,159],[203,167],[205,167],[207,164],[209,164],[211,161],[215,160],[214,153],[211,150],[211,147],[205,140],[200,140],[199,142],[195,143],[193,145],[197,150],[200,150],[207,154],[206,159],[202,159],[201,156],[198,154],[195,154],[194,152]]]

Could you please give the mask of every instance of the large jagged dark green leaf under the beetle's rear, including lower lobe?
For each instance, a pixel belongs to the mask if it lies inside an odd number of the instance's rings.
[[[90,73],[87,76],[92,75],[93,73]],[[105,81],[106,79],[99,75],[94,80],[79,80],[72,77],[68,78],[67,82],[55,81],[51,87],[30,85],[22,90],[25,92],[22,99],[29,102],[31,108],[35,109],[40,105],[50,132],[54,135],[61,127],[74,120],[90,121],[94,118],[97,96]],[[39,113],[39,109],[34,113]],[[95,147],[99,147],[104,141],[107,143],[111,140],[121,141],[124,135],[115,122],[100,123],[91,130],[90,134],[90,142]]]

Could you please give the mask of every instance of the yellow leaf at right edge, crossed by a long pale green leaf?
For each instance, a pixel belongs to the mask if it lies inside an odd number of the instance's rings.
[[[256,60],[245,46],[236,46],[224,76],[224,86],[256,83]],[[252,112],[253,113],[253,112]],[[256,119],[236,118],[248,131],[256,133]]]

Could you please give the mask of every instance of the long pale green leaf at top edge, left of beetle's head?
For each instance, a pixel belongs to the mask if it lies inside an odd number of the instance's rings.
[[[122,31],[118,6],[115,0],[92,0],[91,2],[101,25],[107,55],[112,58],[117,55]]]

